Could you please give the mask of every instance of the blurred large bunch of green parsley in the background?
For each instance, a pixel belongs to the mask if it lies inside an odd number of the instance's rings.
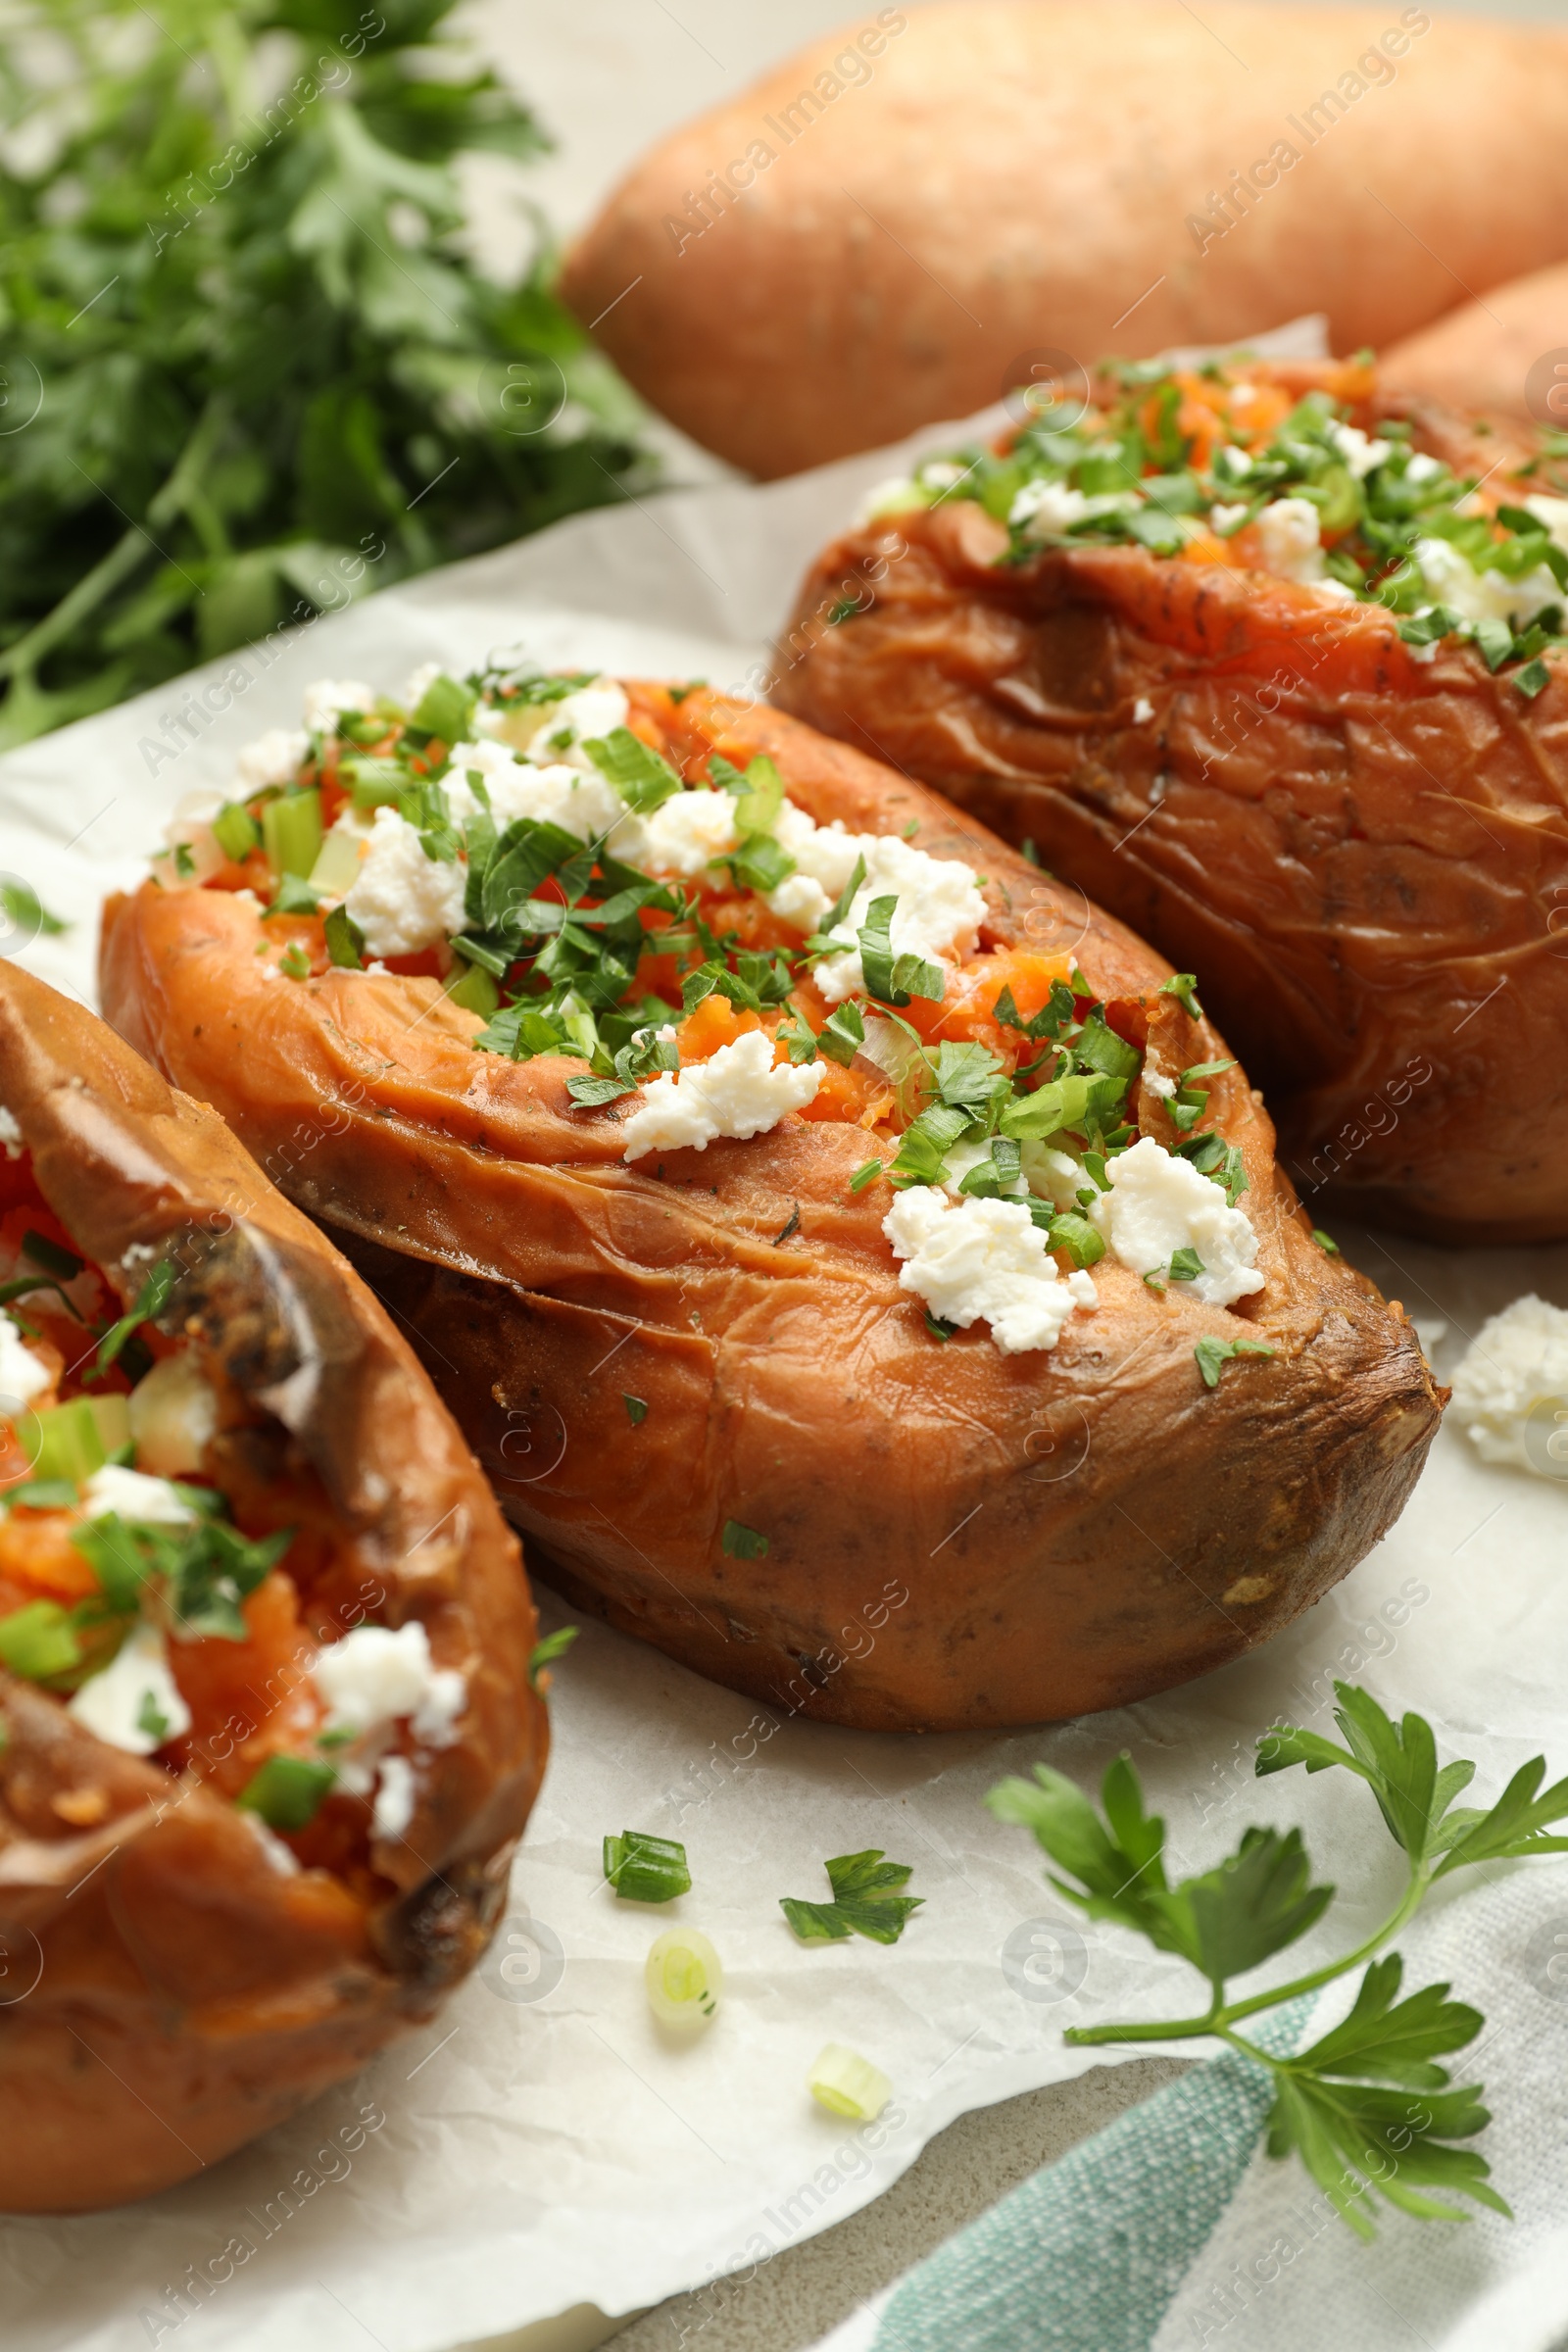
[[[0,746],[623,492],[632,405],[461,247],[543,148],[451,0],[19,0],[0,28]]]

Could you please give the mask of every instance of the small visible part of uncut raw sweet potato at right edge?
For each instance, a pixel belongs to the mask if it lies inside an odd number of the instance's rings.
[[[1568,261],[1460,303],[1382,350],[1378,367],[1401,393],[1561,433],[1568,376],[1554,353],[1568,353]]]

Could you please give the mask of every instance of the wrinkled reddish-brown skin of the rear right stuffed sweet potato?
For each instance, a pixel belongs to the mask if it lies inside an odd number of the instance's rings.
[[[1523,456],[1410,414],[1455,468]],[[1568,1235],[1561,656],[1528,701],[1469,644],[1415,661],[1380,607],[1135,546],[997,567],[1004,546],[973,501],[846,532],[776,701],[1032,840],[1197,971],[1314,1211]],[[860,612],[832,626],[846,583]]]

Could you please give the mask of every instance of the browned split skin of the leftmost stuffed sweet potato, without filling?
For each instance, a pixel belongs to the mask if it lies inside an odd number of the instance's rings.
[[[322,1479],[369,1609],[468,1675],[381,1891],[282,1875],[195,1776],[106,1748],[0,1672],[0,2211],[146,2197],[282,2122],[425,2020],[484,1950],[545,1762],[517,1543],[407,1343],[212,1110],[0,962],[0,1098],[78,1244],[136,1289],[183,1268],[193,1343]],[[287,1451],[284,1451],[287,1463]],[[73,1830],[56,1799],[101,1792]]]

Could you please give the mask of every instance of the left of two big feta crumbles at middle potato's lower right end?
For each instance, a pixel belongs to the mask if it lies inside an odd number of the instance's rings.
[[[933,1185],[917,1183],[898,1195],[882,1230],[905,1261],[898,1287],[961,1331],[987,1322],[1001,1355],[1056,1348],[1072,1310],[1098,1305],[1088,1275],[1063,1279],[1020,1202],[950,1204]]]

